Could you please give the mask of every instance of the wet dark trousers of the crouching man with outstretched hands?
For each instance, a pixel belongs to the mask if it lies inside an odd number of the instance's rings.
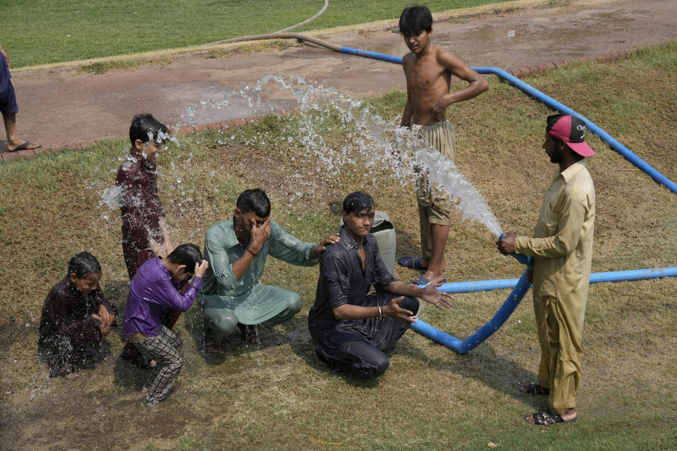
[[[391,293],[374,293],[367,297],[365,307],[384,306],[398,297]],[[398,304],[402,309],[416,314],[418,299],[407,297]],[[397,341],[410,323],[394,318],[368,318],[350,321],[350,326],[322,330],[317,333],[317,357],[329,368],[339,373],[353,373],[363,379],[375,378],[385,373],[390,365],[386,353],[395,349]]]

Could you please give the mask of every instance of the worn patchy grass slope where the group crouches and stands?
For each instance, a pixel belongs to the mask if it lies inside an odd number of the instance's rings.
[[[504,230],[530,234],[554,166],[541,149],[547,107],[490,78],[481,97],[453,106],[458,167],[482,191]],[[671,180],[677,180],[677,44],[638,51],[614,63],[579,63],[525,79],[580,111]],[[370,99],[395,118],[405,93]],[[531,116],[534,116],[533,118]],[[328,169],[303,143],[315,128],[343,160]],[[303,240],[336,230],[336,203],[365,189],[396,224],[397,256],[419,238],[411,180],[394,178],[379,149],[336,111],[267,116],[227,132],[181,138],[159,165],[159,192],[173,242],[202,244],[212,223],[231,215],[245,187],[272,197],[273,216]],[[592,269],[677,264],[677,196],[654,183],[597,137],[588,168],[597,191]],[[307,311],[317,268],[269,259],[263,279],[303,298],[290,322],[262,330],[262,345],[230,338],[224,354],[203,350],[193,307],[176,329],[185,343],[180,384],[166,402],[142,409],[144,371],[110,356],[75,381],[48,379],[37,362],[37,326],[49,288],[70,257],[89,250],[103,266],[102,287],[120,309],[128,280],[117,209],[102,192],[128,142],[0,165],[0,448],[16,450],[669,450],[677,440],[677,280],[591,285],[583,332],[579,420],[549,428],[522,416],[544,407],[520,395],[533,381],[539,350],[527,294],[506,325],[467,355],[408,332],[376,381],[329,371],[315,357]],[[344,152],[343,152],[344,151]],[[362,152],[362,153],[360,153]],[[371,168],[372,175],[365,175]],[[302,176],[300,176],[302,175]],[[301,195],[299,195],[300,193]],[[446,249],[452,281],[515,278],[522,271],[496,252],[484,226],[455,223]],[[410,280],[415,271],[396,268]],[[451,310],[424,306],[421,318],[459,338],[482,326],[508,292],[456,295]]]

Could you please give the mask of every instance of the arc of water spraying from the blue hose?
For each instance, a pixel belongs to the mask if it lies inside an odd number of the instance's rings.
[[[464,219],[484,224],[497,237],[501,234],[501,227],[482,194],[451,161],[396,121],[381,118],[365,101],[352,99],[322,83],[308,82],[300,76],[269,74],[253,85],[224,94],[221,101],[210,99],[189,106],[182,118],[195,118],[205,108],[226,109],[231,101],[248,104],[254,114],[270,114],[276,111],[276,100],[272,97],[293,99],[296,107],[288,116],[272,116],[277,122],[269,128],[221,130],[217,143],[248,147],[252,155],[277,154],[283,171],[277,175],[281,178],[277,183],[281,198],[276,200],[286,204],[286,213],[290,216],[298,216],[291,212],[299,203],[310,204],[314,198],[346,190],[401,195],[382,192],[379,180],[385,176],[393,183],[410,188],[423,168],[429,173],[430,183],[437,183],[456,201],[456,209]],[[174,125],[175,130],[180,125]],[[213,180],[219,178],[219,171],[205,167],[200,159],[193,160],[193,152],[205,152],[200,147],[201,138],[164,134],[153,138],[169,139],[176,144],[160,156],[158,183],[165,206],[171,205],[185,217],[204,217],[209,209],[214,213],[214,206],[204,199],[205,192],[201,190],[198,194],[190,178],[190,173],[210,173],[214,175]],[[186,143],[188,140],[190,144]],[[221,172],[232,175],[233,168],[222,166]],[[226,191],[226,187],[216,182],[209,187],[209,192],[215,194]],[[119,223],[119,215],[112,211],[119,207],[120,192],[108,185],[99,186],[99,193],[102,199],[99,204],[108,207],[102,209],[106,225]],[[210,225],[202,224],[182,232],[186,239],[201,242]]]

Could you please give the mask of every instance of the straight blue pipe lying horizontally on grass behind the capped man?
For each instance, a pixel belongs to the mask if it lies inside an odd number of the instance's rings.
[[[677,266],[666,268],[633,269],[590,274],[590,283],[645,280],[662,277],[677,277]],[[469,293],[475,291],[508,290],[515,288],[519,279],[475,280],[470,282],[445,283],[437,288],[446,293]]]

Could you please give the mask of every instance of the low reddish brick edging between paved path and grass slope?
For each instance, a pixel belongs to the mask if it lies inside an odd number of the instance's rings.
[[[630,51],[626,50],[616,50],[608,51],[604,54],[597,54],[594,56],[583,56],[580,58],[568,58],[563,61],[552,61],[551,63],[537,64],[535,66],[523,67],[523,68],[511,68],[506,69],[506,72],[511,75],[516,76],[517,78],[526,77],[527,75],[532,75],[534,73],[546,72],[548,70],[554,70],[566,66],[570,63],[585,63],[587,61],[597,61],[599,63],[608,63],[609,61],[618,61],[623,58],[627,58]],[[245,125],[249,123],[254,123],[261,116],[247,116],[245,118],[235,118],[228,119],[226,121],[212,122],[202,125],[185,125],[184,127],[171,130],[176,132],[179,135],[190,135],[191,133],[200,133],[208,129],[218,129],[223,130],[225,128],[237,128],[240,125]],[[19,152],[3,152],[0,154],[0,161],[11,161],[21,158],[30,158],[39,154],[47,154],[49,152],[61,153],[64,150],[82,150],[96,144],[96,141],[89,142],[76,142],[73,144],[64,144],[61,147],[41,147],[40,149],[26,149],[20,150]]]

